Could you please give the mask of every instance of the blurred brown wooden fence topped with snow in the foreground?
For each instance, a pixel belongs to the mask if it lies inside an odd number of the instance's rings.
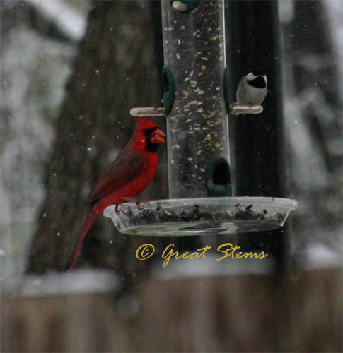
[[[108,290],[3,296],[1,352],[342,352],[342,269],[281,283],[152,275],[119,302]]]

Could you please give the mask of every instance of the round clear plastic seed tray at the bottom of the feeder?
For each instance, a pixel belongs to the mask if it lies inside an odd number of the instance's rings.
[[[122,203],[105,217],[124,234],[146,236],[218,235],[282,227],[297,201],[286,198],[184,198]]]

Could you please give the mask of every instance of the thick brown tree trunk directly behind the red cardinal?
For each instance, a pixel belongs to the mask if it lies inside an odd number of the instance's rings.
[[[85,221],[84,205],[92,184],[134,131],[129,110],[161,105],[161,74],[154,66],[149,3],[94,1],[93,5],[57,121],[47,165],[47,196],[37,220],[28,273],[64,268]],[[159,123],[164,130],[164,119]],[[159,157],[149,196],[158,193],[163,198],[167,190],[165,147]],[[127,256],[133,258],[135,253],[128,251],[130,241],[144,244],[146,239],[125,237],[100,215],[76,265],[97,263],[124,270]]]

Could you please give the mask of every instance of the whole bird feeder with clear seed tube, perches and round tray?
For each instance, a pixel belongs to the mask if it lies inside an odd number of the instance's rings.
[[[261,106],[228,102],[223,0],[161,1],[162,108],[134,108],[134,116],[164,115],[168,138],[168,200],[122,203],[104,215],[125,234],[233,234],[284,225],[297,202],[232,197],[228,114],[259,114]]]

